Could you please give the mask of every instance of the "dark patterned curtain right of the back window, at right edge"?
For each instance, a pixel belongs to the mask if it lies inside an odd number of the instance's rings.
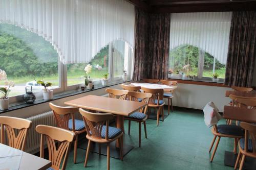
[[[256,58],[256,12],[233,12],[225,85],[250,87]]]

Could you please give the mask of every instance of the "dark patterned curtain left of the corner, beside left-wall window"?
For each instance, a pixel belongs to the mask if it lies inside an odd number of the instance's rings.
[[[148,13],[140,8],[135,8],[135,52],[133,80],[144,78],[145,59],[147,57],[148,44]]]

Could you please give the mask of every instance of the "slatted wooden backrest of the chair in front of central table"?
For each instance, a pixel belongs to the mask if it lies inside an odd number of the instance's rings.
[[[105,139],[109,139],[109,121],[114,118],[111,113],[91,113],[83,109],[79,109],[82,115],[84,124],[86,125],[87,135],[93,137],[94,139],[101,139],[102,127],[106,126]]]

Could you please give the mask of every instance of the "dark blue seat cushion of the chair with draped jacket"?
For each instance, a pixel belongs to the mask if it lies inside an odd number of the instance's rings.
[[[220,134],[226,135],[234,135],[234,136],[242,136],[243,130],[237,125],[218,125],[218,132]]]

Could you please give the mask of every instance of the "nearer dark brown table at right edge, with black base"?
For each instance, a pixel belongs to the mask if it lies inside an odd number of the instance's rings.
[[[223,118],[232,120],[241,120],[247,123],[256,123],[256,110],[239,108],[233,106],[224,106]],[[233,152],[225,151],[224,163],[228,166],[233,166],[236,163],[237,155]],[[244,169],[253,169],[256,166],[256,161],[253,158],[246,157]]]

